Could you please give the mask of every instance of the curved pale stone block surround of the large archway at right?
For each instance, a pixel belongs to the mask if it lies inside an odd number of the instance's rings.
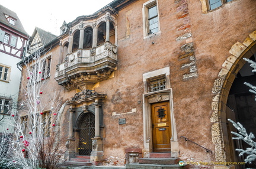
[[[229,154],[228,138],[226,131],[226,102],[229,90],[238,71],[244,66],[244,57],[250,57],[256,51],[256,31],[249,34],[243,43],[236,42],[232,45],[231,56],[222,64],[217,79],[212,88],[212,93],[216,94],[212,100],[212,141],[215,144],[216,161],[226,161]]]

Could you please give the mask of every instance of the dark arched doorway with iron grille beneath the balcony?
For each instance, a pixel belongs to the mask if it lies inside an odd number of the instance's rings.
[[[79,122],[79,155],[90,155],[92,138],[95,135],[95,116],[93,113],[84,113]]]

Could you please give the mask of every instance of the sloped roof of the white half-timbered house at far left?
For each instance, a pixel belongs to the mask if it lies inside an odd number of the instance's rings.
[[[10,17],[12,17],[14,19],[17,19],[15,21],[15,25],[9,24],[9,22],[7,21],[7,18],[5,17],[5,14],[9,15]],[[10,28],[13,28],[14,30],[17,30],[17,31],[23,33],[24,35],[27,35],[27,32],[24,30],[23,25],[21,24],[21,21],[18,18],[18,15],[15,12],[11,11],[8,8],[5,8],[2,5],[0,5],[0,22],[2,24],[7,25]]]

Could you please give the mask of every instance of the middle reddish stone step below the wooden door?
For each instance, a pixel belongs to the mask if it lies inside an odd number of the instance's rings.
[[[139,158],[140,164],[178,164],[180,158]]]

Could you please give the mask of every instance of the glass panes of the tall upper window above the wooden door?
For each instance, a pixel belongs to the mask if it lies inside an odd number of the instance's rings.
[[[158,11],[156,4],[148,8],[148,24],[149,34],[158,32]]]

